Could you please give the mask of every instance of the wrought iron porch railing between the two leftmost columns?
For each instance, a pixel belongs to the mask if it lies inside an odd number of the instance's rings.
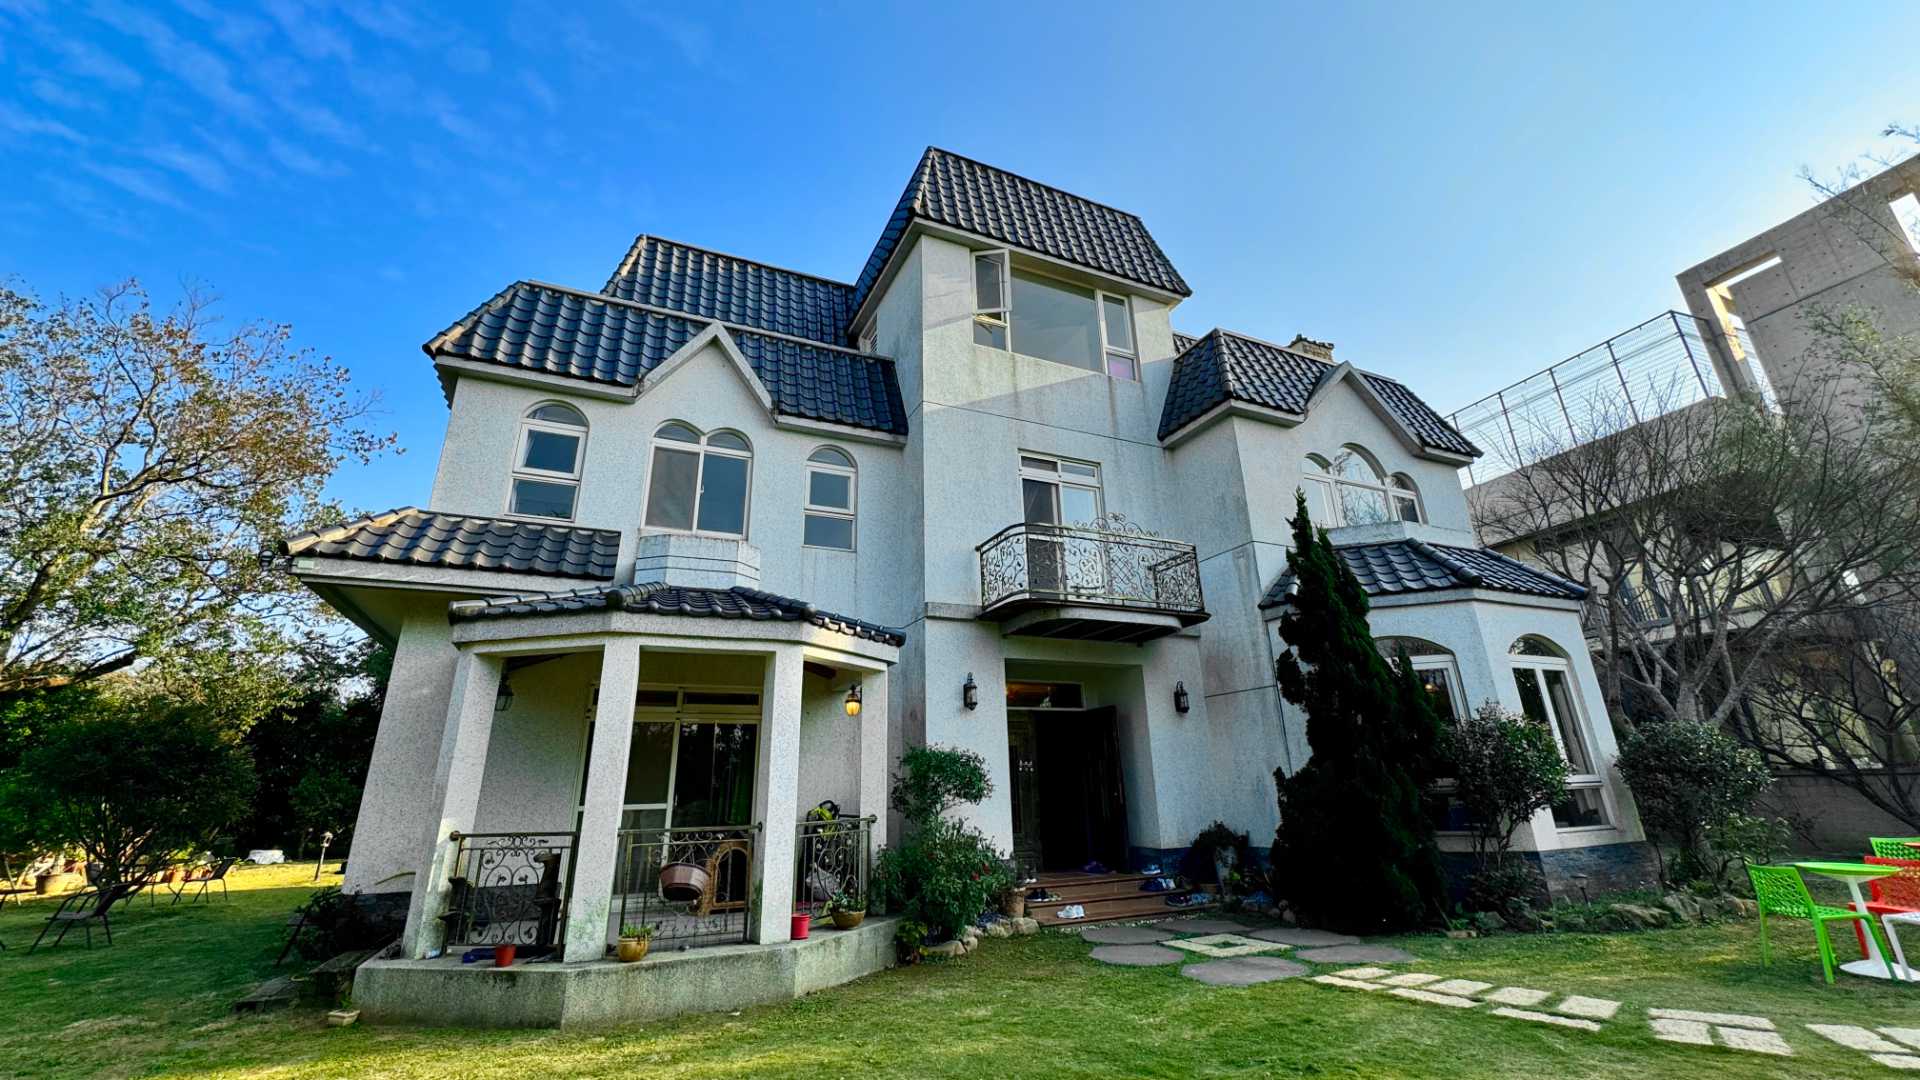
[[[574,832],[455,832],[447,945],[522,945],[532,959],[566,942]]]

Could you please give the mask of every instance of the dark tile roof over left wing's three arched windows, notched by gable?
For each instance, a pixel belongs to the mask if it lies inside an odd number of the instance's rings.
[[[520,281],[422,348],[428,356],[637,386],[708,325]],[[728,332],[766,384],[776,413],[906,434],[906,407],[891,359],[745,327],[728,327]]]

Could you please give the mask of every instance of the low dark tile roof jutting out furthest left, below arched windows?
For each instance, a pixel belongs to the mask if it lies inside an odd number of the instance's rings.
[[[407,505],[288,536],[280,542],[280,552],[415,567],[611,578],[620,534]]]

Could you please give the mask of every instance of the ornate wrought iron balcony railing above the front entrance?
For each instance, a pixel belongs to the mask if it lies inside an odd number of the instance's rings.
[[[1192,544],[1108,515],[1081,525],[1012,525],[977,548],[983,609],[1021,600],[1206,615]]]

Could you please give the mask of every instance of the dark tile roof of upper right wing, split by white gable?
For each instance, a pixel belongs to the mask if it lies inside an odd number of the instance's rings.
[[[1313,390],[1334,369],[1323,359],[1221,329],[1188,340],[1192,344],[1173,361],[1167,402],[1160,409],[1160,438],[1167,438],[1227,400],[1283,413],[1306,413]],[[1382,375],[1365,371],[1359,375],[1413,430],[1421,446],[1448,454],[1480,454],[1413,390]]]

